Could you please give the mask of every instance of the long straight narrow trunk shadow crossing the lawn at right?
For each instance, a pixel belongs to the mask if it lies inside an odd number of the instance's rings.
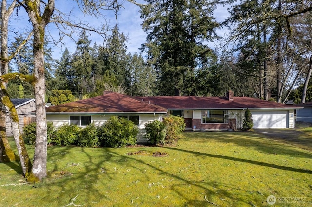
[[[208,156],[208,157],[213,157],[213,158],[232,160],[232,161],[235,161],[235,162],[245,162],[245,163],[259,165],[259,166],[264,166],[264,167],[276,168],[276,169],[280,169],[280,170],[284,170],[284,171],[292,171],[292,172],[297,172],[297,173],[312,174],[312,170],[308,170],[308,169],[292,168],[292,167],[286,167],[286,166],[281,166],[281,165],[270,164],[270,163],[266,163],[266,162],[259,162],[259,161],[254,161],[254,160],[241,159],[241,158],[236,158],[236,157],[231,157],[231,156],[224,156],[224,155],[214,155],[214,154],[209,154],[209,153],[194,152],[194,151],[177,149],[177,148],[169,148],[169,147],[164,147],[164,148],[168,148],[168,149],[171,149],[171,150],[177,150],[177,151],[181,151],[181,152],[186,152],[186,153],[191,153],[191,154],[195,154],[195,155],[198,155],[198,156]]]

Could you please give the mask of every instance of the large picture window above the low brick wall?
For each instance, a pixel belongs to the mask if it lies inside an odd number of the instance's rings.
[[[228,123],[228,111],[207,110],[202,111],[202,123]]]

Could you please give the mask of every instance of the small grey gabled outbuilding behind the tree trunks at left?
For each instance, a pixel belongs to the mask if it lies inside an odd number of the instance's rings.
[[[35,114],[31,113],[32,111],[36,110],[35,99],[11,99],[11,102],[12,104],[14,104],[16,112],[18,113],[20,121],[20,131],[22,133],[25,125],[36,121]],[[11,119],[8,115],[6,116],[6,135],[13,135],[11,129]]]

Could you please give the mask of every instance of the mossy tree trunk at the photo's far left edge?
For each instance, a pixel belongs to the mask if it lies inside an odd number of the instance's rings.
[[[8,73],[8,23],[16,1],[13,1],[10,6],[7,7],[6,0],[1,2],[1,57],[0,57],[0,76]],[[5,85],[4,85],[5,86]],[[0,105],[0,162],[15,161],[16,155],[11,149],[6,137],[6,111],[3,104]]]

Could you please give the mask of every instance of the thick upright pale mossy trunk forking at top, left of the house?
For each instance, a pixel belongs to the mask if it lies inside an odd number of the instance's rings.
[[[34,84],[36,101],[36,144],[32,173],[27,178],[36,182],[46,177],[47,164],[47,123],[45,114],[45,76],[44,76],[44,30],[54,11],[54,0],[48,0],[41,13],[40,0],[25,0],[26,9],[33,25]]]

